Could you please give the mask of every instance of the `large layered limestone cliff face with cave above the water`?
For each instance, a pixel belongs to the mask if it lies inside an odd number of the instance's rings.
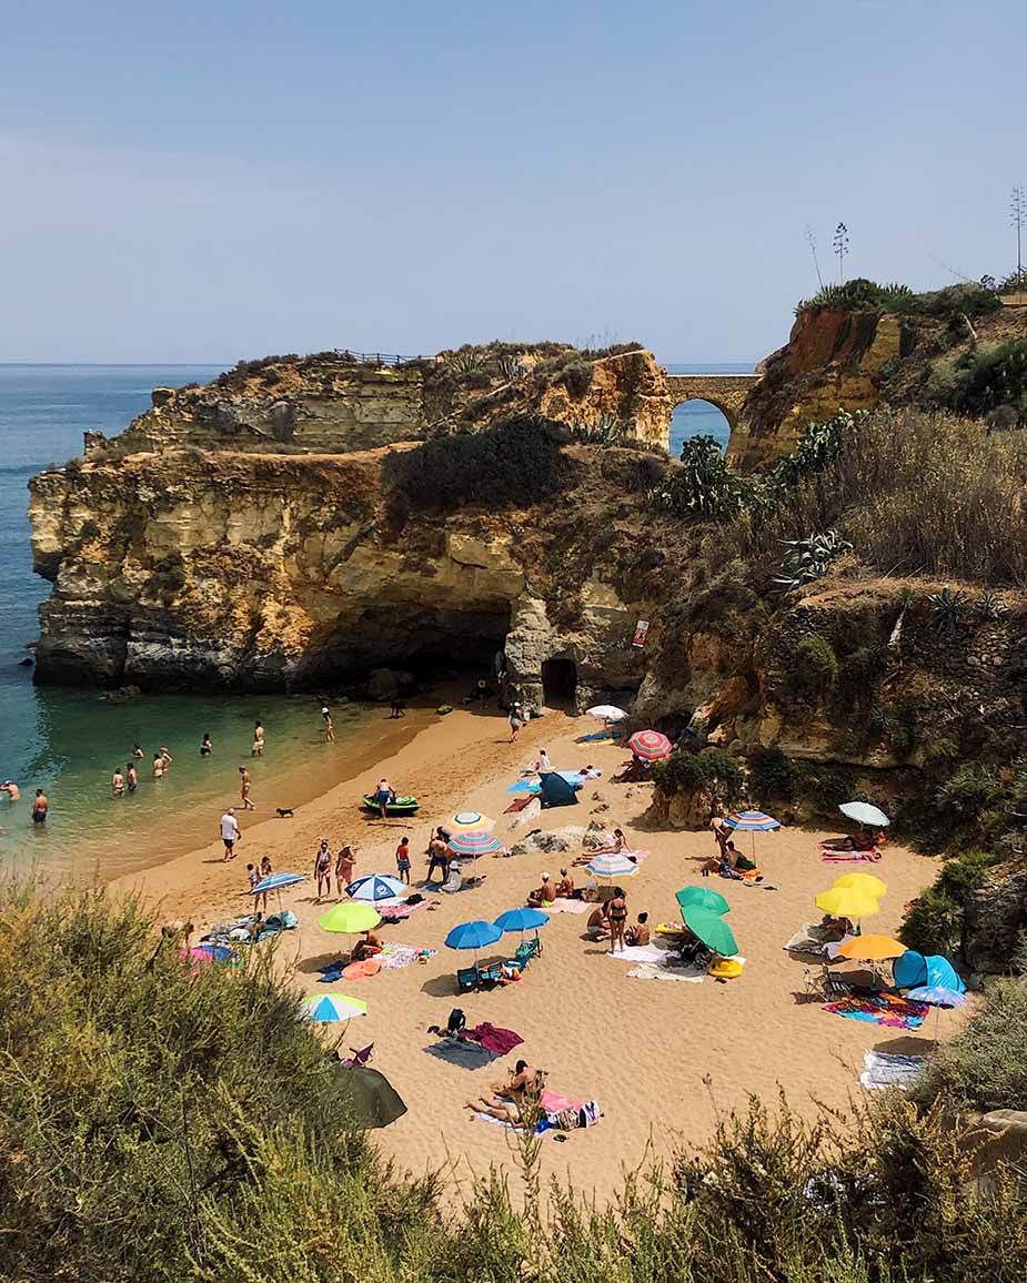
[[[560,503],[397,518],[397,449],[166,450],[36,477],[35,566],[54,582],[39,680],[294,689],[419,657],[489,667],[506,643],[538,704],[557,657],[579,704],[633,692],[647,603],[616,504],[646,484],[639,457],[573,449],[580,482]]]

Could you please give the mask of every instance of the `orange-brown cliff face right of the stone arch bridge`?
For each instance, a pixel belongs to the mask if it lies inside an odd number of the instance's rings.
[[[773,463],[795,449],[802,429],[840,409],[873,409],[882,382],[911,343],[900,317],[814,308],[801,312],[788,343],[764,362],[729,458],[741,468]]]

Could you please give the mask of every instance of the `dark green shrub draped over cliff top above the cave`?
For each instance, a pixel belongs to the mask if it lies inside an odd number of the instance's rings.
[[[385,461],[385,484],[419,511],[528,508],[573,484],[561,449],[567,439],[561,423],[525,414],[397,450]]]

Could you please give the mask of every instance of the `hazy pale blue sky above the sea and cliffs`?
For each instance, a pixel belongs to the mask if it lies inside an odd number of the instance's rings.
[[[1023,0],[50,0],[0,40],[0,361],[489,339],[756,361],[832,236],[1014,267]]]

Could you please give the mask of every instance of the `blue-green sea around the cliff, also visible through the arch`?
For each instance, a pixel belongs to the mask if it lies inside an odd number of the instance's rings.
[[[336,745],[329,748],[312,695],[148,694],[112,703],[92,689],[36,686],[23,663],[32,658],[36,612],[50,591],[32,571],[28,479],[80,455],[85,431],[119,432],[149,407],[153,387],[207,382],[223,368],[0,364],[0,783],[14,780],[22,790],[17,803],[0,794],[0,872],[89,883],[158,863],[217,837],[217,816],[237,798],[241,762],[250,767],[258,806],[272,783],[281,797],[284,780],[289,804],[324,792],[358,748],[366,753],[384,735],[381,711],[359,704],[332,707]],[[671,373],[752,368],[668,366]],[[706,402],[679,405],[671,450],[698,434],[725,445],[727,421]],[[252,761],[258,718],[267,749]],[[199,756],[204,734],[214,745],[209,758]],[[136,744],[144,753],[139,789],[116,801],[110,777],[116,767],[126,769]],[[175,761],[168,776],[154,781],[150,763],[162,745]],[[36,788],[50,798],[45,825],[31,822]]]

